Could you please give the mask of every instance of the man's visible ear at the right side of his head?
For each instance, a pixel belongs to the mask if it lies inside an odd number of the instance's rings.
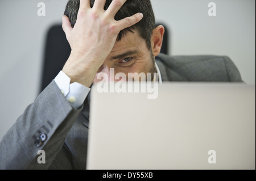
[[[154,57],[158,56],[158,54],[160,53],[163,43],[163,35],[164,27],[162,25],[159,25],[155,28],[155,30],[153,30],[153,33],[151,35],[151,47]]]

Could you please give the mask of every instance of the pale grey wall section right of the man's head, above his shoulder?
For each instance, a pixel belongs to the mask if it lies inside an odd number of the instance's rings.
[[[255,83],[254,0],[152,0],[156,20],[171,29],[171,54],[227,55]],[[217,16],[208,16],[215,2]]]

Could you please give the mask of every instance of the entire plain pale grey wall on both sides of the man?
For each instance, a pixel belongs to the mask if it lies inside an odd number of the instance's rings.
[[[37,15],[46,3],[46,16]],[[217,16],[208,16],[208,3]],[[61,23],[67,0],[0,0],[0,139],[38,95],[46,31]],[[170,52],[232,58],[255,83],[254,0],[152,0],[156,20],[171,31]]]

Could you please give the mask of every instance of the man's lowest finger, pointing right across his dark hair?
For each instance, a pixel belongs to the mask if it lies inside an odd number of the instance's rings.
[[[123,29],[131,27],[134,24],[140,22],[142,18],[143,18],[143,14],[139,12],[133,16],[127,17],[125,19],[121,19],[118,21],[117,28],[118,30],[122,31]]]

